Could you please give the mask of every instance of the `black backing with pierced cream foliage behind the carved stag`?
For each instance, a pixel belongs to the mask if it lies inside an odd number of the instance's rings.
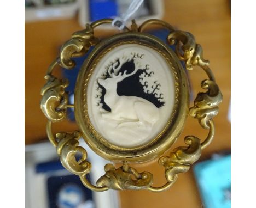
[[[121,66],[118,72],[119,75],[131,74],[135,70],[135,59],[143,59],[144,54],[132,53],[131,58],[127,59]],[[120,58],[116,58],[114,62],[110,62],[106,66],[106,71],[102,74],[102,79],[111,77],[114,73],[113,69],[109,71],[109,67],[115,64],[116,68],[120,66]],[[110,73],[109,73],[110,72]],[[117,94],[119,96],[137,96],[152,102],[157,108],[165,105],[164,95],[160,92],[161,84],[155,80],[153,84],[149,84],[147,81],[149,77],[154,75],[154,71],[149,69],[149,65],[146,64],[142,69],[139,69],[135,74],[124,78],[117,85]],[[98,94],[96,95],[97,106],[101,106],[105,111],[111,112],[111,108],[104,101],[104,95],[106,89],[97,82]]]

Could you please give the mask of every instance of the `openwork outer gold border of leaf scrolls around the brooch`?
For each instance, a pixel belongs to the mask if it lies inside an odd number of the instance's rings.
[[[218,114],[218,105],[222,102],[222,94],[209,68],[210,62],[203,59],[202,47],[196,44],[192,34],[174,30],[168,23],[157,19],[147,20],[140,27],[137,27],[135,21],[132,20],[131,30],[124,29],[126,32],[143,32],[149,25],[160,25],[167,28],[170,30],[170,34],[167,36],[168,44],[176,44],[176,54],[180,60],[184,61],[185,67],[191,70],[193,66],[200,66],[208,76],[208,79],[201,83],[202,89],[207,91],[197,94],[194,106],[189,109],[189,115],[196,118],[203,129],[208,129],[208,136],[203,142],[195,136],[187,136],[184,138],[184,142],[188,146],[176,148],[169,156],[159,158],[159,164],[165,167],[167,180],[165,185],[153,187],[153,175],[151,173],[139,173],[130,167],[126,161],[119,168],[115,168],[113,164],[106,164],[104,166],[106,174],[97,180],[96,185],[92,185],[86,178],[90,172],[91,163],[87,161],[86,150],[79,146],[80,133],[78,131],[59,132],[54,135],[51,130],[52,123],[65,119],[66,109],[74,107],[74,105],[68,104],[68,94],[65,91],[68,81],[54,77],[51,74],[53,69],[58,65],[66,69],[73,69],[75,62],[71,58],[83,56],[91,46],[98,43],[99,40],[94,36],[94,29],[111,22],[112,19],[98,20],[87,24],[84,30],[73,33],[72,38],[63,44],[60,56],[49,66],[45,76],[47,82],[41,90],[42,100],[40,102],[40,107],[48,118],[46,132],[50,142],[56,147],[62,165],[69,172],[80,176],[84,186],[93,191],[107,191],[110,188],[116,190],[147,189],[152,192],[165,191],[177,180],[179,173],[187,172],[190,165],[199,160],[201,151],[212,142],[214,137],[212,118]],[[79,161],[75,159],[78,152],[82,155]]]

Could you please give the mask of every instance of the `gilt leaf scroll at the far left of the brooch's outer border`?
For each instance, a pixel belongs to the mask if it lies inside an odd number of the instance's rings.
[[[68,86],[68,81],[59,80],[53,75],[46,75],[44,78],[47,82],[41,90],[43,97],[40,107],[50,121],[61,121],[66,118],[68,95],[65,88]]]

